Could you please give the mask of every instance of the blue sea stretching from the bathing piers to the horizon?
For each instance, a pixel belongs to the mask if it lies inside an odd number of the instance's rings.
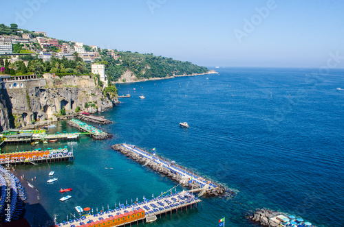
[[[215,69],[215,68],[209,68]],[[114,121],[94,125],[113,134],[67,145],[73,162],[17,166],[39,191],[25,217],[41,226],[78,216],[75,206],[107,211],[152,198],[176,182],[111,149],[129,143],[236,191],[233,198],[202,198],[202,207],[162,216],[144,226],[257,226],[257,208],[302,217],[316,226],[344,226],[344,69],[217,68],[217,73],[117,84],[121,103],[97,113]],[[144,95],[145,99],[140,99]],[[180,122],[189,123],[181,128]],[[76,132],[66,121],[48,133]],[[89,123],[92,124],[92,123]],[[3,152],[33,150],[6,145]],[[47,184],[50,171],[57,182]],[[36,177],[36,179],[34,179]],[[72,188],[60,202],[62,188]],[[175,187],[174,191],[182,191]],[[65,194],[65,195],[67,195]],[[35,196],[35,195],[28,195]],[[139,224],[142,226],[142,224]]]

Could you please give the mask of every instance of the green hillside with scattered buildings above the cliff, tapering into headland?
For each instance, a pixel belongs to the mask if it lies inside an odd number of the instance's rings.
[[[35,33],[19,29],[15,24],[11,24],[11,27],[0,24],[0,36],[12,40],[12,53],[32,54],[31,58],[21,57],[21,60],[29,60],[28,69],[24,69],[21,62],[9,64],[8,71],[11,75],[23,75],[30,72],[37,75],[43,73],[55,73],[62,76],[83,75],[90,73],[91,63],[105,64],[110,82],[125,82],[125,79],[120,78],[127,74],[133,80],[144,80],[208,72],[206,67],[200,67],[191,62],[153,56],[153,53],[100,49],[83,43],[57,40],[48,37],[45,32]],[[0,67],[6,67],[5,62],[0,61]]]

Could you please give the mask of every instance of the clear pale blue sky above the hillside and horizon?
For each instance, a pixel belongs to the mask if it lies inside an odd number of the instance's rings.
[[[255,9],[269,2],[268,12],[259,16]],[[0,23],[207,67],[319,68],[338,51],[330,63],[344,68],[344,1],[273,2],[2,0]],[[245,32],[245,19],[255,22],[253,30],[246,26]],[[235,31],[245,35],[237,38]]]

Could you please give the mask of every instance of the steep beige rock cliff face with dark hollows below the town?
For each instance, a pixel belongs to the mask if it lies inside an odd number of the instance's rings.
[[[0,123],[3,130],[9,126],[6,116],[8,112],[12,112],[14,126],[17,128],[26,126],[33,120],[55,121],[62,109],[65,109],[66,115],[76,112],[77,107],[94,113],[112,108],[118,101],[105,97],[96,87],[93,77],[68,76],[60,79],[51,74],[43,77],[47,80],[47,86],[3,90],[3,102],[0,102]]]

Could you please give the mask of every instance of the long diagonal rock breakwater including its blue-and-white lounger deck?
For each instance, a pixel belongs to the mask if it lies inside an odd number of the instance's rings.
[[[227,190],[222,184],[215,184],[213,180],[197,176],[184,167],[176,165],[175,162],[166,161],[136,146],[116,144],[112,146],[112,149],[125,154],[125,156],[144,166],[150,167],[154,171],[158,171],[160,174],[171,178],[184,187],[189,187],[193,192],[199,192],[199,196],[206,195],[208,197],[214,197],[235,195],[234,191]]]

